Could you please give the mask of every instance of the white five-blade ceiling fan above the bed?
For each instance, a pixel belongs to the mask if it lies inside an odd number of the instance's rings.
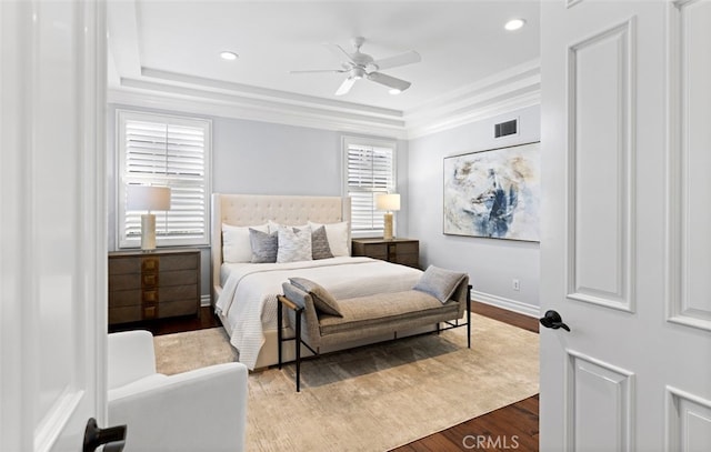
[[[370,81],[374,81],[375,83],[384,84],[385,87],[390,88],[390,92],[393,94],[400,93],[410,88],[411,83],[409,81],[397,79],[379,71],[404,64],[417,63],[421,60],[420,53],[415,52],[414,50],[410,50],[394,57],[374,60],[371,56],[362,53],[360,51],[363,42],[365,42],[365,39],[362,37],[353,38],[351,40],[354,49],[352,53],[347,52],[339,44],[326,44],[329,49],[331,49],[331,51],[338,53],[339,57],[346,56],[346,58],[348,59],[341,64],[341,69],[291,71],[291,73],[346,73],[347,78],[346,80],[343,80],[338,91],[336,91],[336,96],[343,96],[348,93],[353,87],[353,83],[356,83],[356,81],[360,79],[367,79]]]

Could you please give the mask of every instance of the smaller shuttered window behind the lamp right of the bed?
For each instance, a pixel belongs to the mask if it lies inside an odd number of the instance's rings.
[[[344,193],[351,198],[353,237],[382,235],[375,194],[395,192],[395,142],[343,137]]]

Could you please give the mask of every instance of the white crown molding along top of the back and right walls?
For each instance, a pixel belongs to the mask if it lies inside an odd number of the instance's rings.
[[[121,78],[110,103],[412,139],[540,103],[540,64],[531,61],[408,111],[203,79],[149,68]]]

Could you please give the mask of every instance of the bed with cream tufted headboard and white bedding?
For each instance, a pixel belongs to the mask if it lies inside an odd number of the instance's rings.
[[[420,279],[422,271],[418,269],[351,257],[349,220],[349,198],[212,194],[212,301],[216,314],[230,335],[230,343],[239,352],[240,362],[250,370],[279,361],[277,295],[282,293],[281,284],[289,278],[318,281],[336,298],[400,292],[411,289]],[[279,225],[298,229],[309,225],[310,230],[323,227],[333,257],[280,263],[251,262],[254,250],[246,249],[250,245],[246,239],[249,228],[269,234]],[[398,335],[432,329],[399,332]],[[369,338],[320,352],[384,339],[388,338]],[[293,358],[286,355],[284,360]]]

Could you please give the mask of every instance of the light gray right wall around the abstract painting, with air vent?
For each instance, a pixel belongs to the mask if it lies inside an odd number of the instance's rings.
[[[519,133],[493,138],[493,124],[519,119]],[[465,271],[472,298],[519,312],[538,313],[539,243],[444,235],[442,233],[443,158],[540,141],[540,108],[531,107],[409,142],[408,233],[420,240],[423,265]],[[520,281],[514,291],[512,280]]]

